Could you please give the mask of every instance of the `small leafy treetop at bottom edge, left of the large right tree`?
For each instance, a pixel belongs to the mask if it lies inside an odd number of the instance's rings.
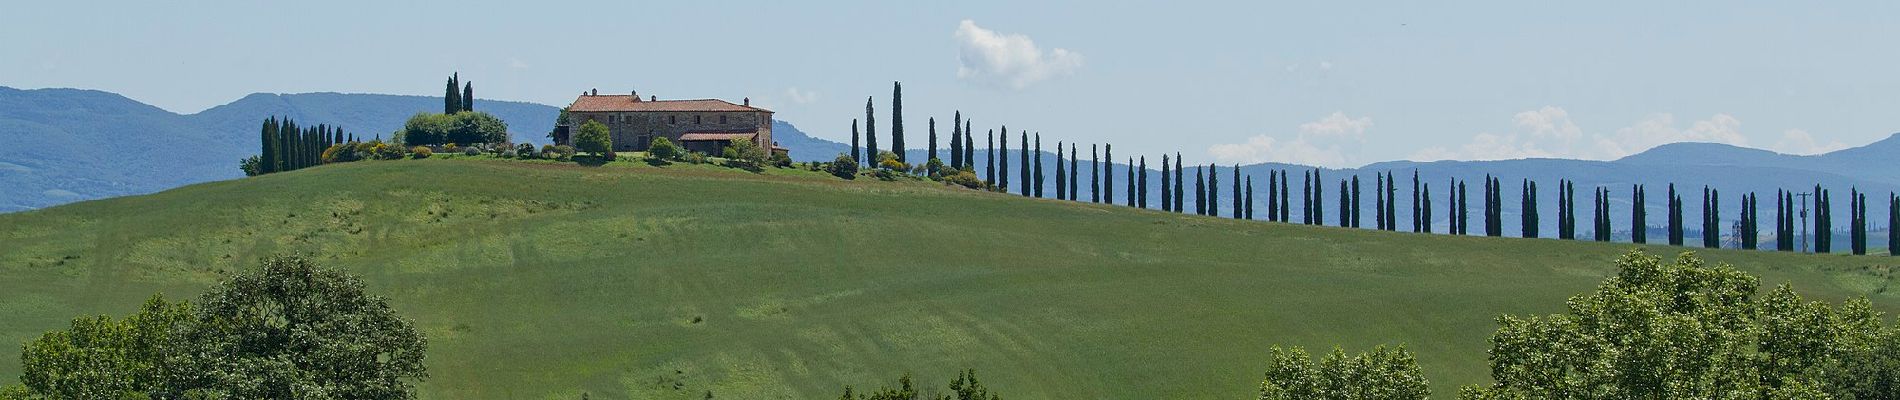
[[[1431,396],[1425,372],[1406,347],[1374,347],[1347,356],[1334,347],[1313,362],[1305,349],[1273,347],[1260,400],[1423,400]]]

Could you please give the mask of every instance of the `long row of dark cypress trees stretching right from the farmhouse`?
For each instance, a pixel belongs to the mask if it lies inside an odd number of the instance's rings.
[[[450,78],[450,87],[452,87],[454,82],[456,82],[456,78]],[[464,95],[467,95],[467,91],[464,91]],[[889,152],[897,157],[899,163],[906,163],[904,161],[904,157],[906,157],[904,155],[904,129],[902,129],[902,83],[901,82],[893,82],[891,83],[891,119],[895,121],[895,125],[891,127],[891,140],[889,140],[891,148],[889,148]],[[1016,155],[1015,159],[1018,163],[1018,171],[1016,171],[1015,176],[1009,171],[1009,159],[1011,159],[1011,154],[1009,154],[1009,133],[1011,131],[1009,131],[1007,125],[1003,125],[999,129],[992,129],[992,131],[986,133],[986,144],[988,146],[986,146],[986,157],[984,157],[984,161],[986,161],[986,165],[984,165],[986,167],[984,169],[984,182],[990,188],[999,188],[999,190],[1005,190],[1005,191],[1011,190],[1011,188],[1015,188],[1015,191],[1020,193],[1020,195],[1024,195],[1024,197],[1043,197],[1043,188],[1047,188],[1047,182],[1045,182],[1045,176],[1043,176],[1045,167],[1043,167],[1043,157],[1041,157],[1041,154],[1043,154],[1041,133],[1034,133],[1034,135],[1030,131],[1018,131],[1016,133],[1018,135],[1018,140],[1016,140],[1018,142],[1018,150],[1015,154]],[[861,136],[864,138],[863,146],[859,144]],[[948,161],[946,167],[956,169],[956,171],[975,171],[977,169],[975,136],[977,135],[975,135],[971,119],[963,118],[961,112],[956,112],[954,119],[952,119],[952,131],[950,131],[950,161]],[[1066,154],[1062,152],[1064,146],[1068,146]],[[935,121],[935,118],[929,121],[929,144],[927,144],[927,152],[929,152],[931,157],[937,157],[937,154],[939,154],[939,150],[937,150],[937,121]],[[863,133],[859,133],[859,121],[857,119],[851,121],[851,157],[859,159],[861,163],[876,165],[878,154],[880,154],[880,150],[878,150],[878,131],[876,131],[874,99],[866,99],[864,100]],[[1081,157],[1079,157],[1079,146],[1074,144],[1074,142],[1056,142],[1054,155],[1056,155],[1056,159],[1054,159],[1054,169],[1056,169],[1056,173],[1054,173],[1056,174],[1054,176],[1056,178],[1054,188],[1056,188],[1056,195],[1054,197],[1056,199],[1066,199],[1066,201],[1081,201],[1079,176],[1081,176],[1081,167],[1083,165],[1081,165]],[[1091,173],[1089,203],[1115,205],[1115,190],[1117,188],[1115,188],[1115,161],[1113,159],[1115,159],[1115,155],[1113,155],[1113,144],[1091,144],[1089,146],[1089,169],[1091,169],[1089,171]],[[1123,205],[1148,209],[1148,205],[1150,205],[1148,203],[1148,190],[1150,188],[1148,188],[1148,173],[1146,173],[1148,171],[1148,157],[1146,155],[1142,155],[1142,157],[1127,157],[1125,163],[1127,163],[1125,171],[1123,171],[1125,173],[1125,182],[1123,182],[1125,186],[1121,188],[1123,193],[1125,193],[1123,195]],[[1222,169],[1224,167],[1220,167],[1220,165],[1197,165],[1197,167],[1193,167],[1193,174],[1195,174],[1193,176],[1193,191],[1195,191],[1193,212],[1195,214],[1203,214],[1203,216],[1220,216],[1220,212],[1222,212],[1220,210],[1222,209],[1220,193],[1231,190],[1231,197],[1229,197],[1231,199],[1231,203],[1229,203],[1231,214],[1229,216],[1231,218],[1239,218],[1239,220],[1256,220],[1254,197],[1252,197],[1254,195],[1254,180],[1252,180],[1252,176],[1243,174],[1241,167],[1233,165],[1231,169],[1227,169],[1227,171],[1231,171],[1229,173],[1229,182],[1227,182],[1229,188],[1222,188],[1220,186]],[[1186,176],[1186,171],[1188,169],[1184,167],[1180,154],[1174,154],[1172,157],[1170,155],[1163,155],[1161,157],[1161,171],[1159,171],[1161,173],[1161,186],[1159,186],[1161,188],[1161,201],[1159,201],[1159,209],[1161,210],[1188,212],[1188,203],[1186,203],[1188,176]],[[931,173],[935,173],[935,171],[931,171]],[[1298,224],[1309,224],[1309,226],[1328,224],[1326,222],[1326,210],[1324,210],[1324,207],[1320,207],[1320,205],[1324,205],[1324,191],[1326,191],[1326,184],[1324,184],[1324,178],[1322,178],[1320,173],[1322,171],[1319,171],[1319,169],[1302,173],[1302,218],[1298,220]],[[1011,186],[1011,178],[1016,180],[1015,186]],[[1288,171],[1281,169],[1281,171],[1269,171],[1267,173],[1267,182],[1265,182],[1265,191],[1267,191],[1267,207],[1265,207],[1265,210],[1267,212],[1265,212],[1265,218],[1262,218],[1262,220],[1290,222],[1290,224],[1294,222],[1290,218],[1290,209],[1292,209],[1292,205],[1290,205],[1292,197],[1288,193],[1290,191],[1288,190],[1290,184],[1292,182],[1288,178]],[[1376,216],[1374,216],[1374,220],[1376,220],[1376,227],[1378,229],[1385,229],[1385,231],[1396,231],[1398,229],[1398,222],[1396,222],[1396,205],[1398,205],[1398,197],[1396,195],[1398,193],[1396,193],[1396,188],[1398,188],[1398,180],[1391,173],[1379,173],[1379,174],[1376,174],[1376,182],[1374,182],[1374,197],[1376,197],[1374,210],[1376,210]],[[1336,216],[1336,224],[1341,226],[1341,227],[1360,227],[1362,218],[1360,218],[1358,212],[1360,212],[1360,205],[1362,203],[1360,203],[1360,197],[1358,197],[1360,195],[1358,176],[1351,176],[1351,178],[1340,180],[1338,190],[1340,190],[1338,191],[1340,193],[1340,197],[1338,197],[1340,214]],[[1830,212],[1832,210],[1832,207],[1830,207],[1832,201],[1830,201],[1828,191],[1824,188],[1820,188],[1820,186],[1814,186],[1813,193],[1814,193],[1814,201],[1816,201],[1814,205],[1818,207],[1816,216],[1814,216],[1816,218],[1814,220],[1814,239],[1813,239],[1814,250],[1816,252],[1830,252],[1832,250],[1832,212]],[[1482,203],[1482,212],[1484,212],[1482,214],[1482,222],[1484,222],[1484,229],[1482,231],[1488,237],[1503,237],[1505,235],[1505,231],[1503,231],[1503,184],[1501,184],[1499,176],[1490,176],[1490,174],[1484,176],[1482,195],[1484,195],[1482,197],[1482,201],[1484,201]],[[1522,180],[1522,184],[1520,184],[1520,197],[1518,197],[1520,199],[1520,210],[1522,210],[1520,212],[1520,227],[1522,227],[1520,235],[1522,237],[1543,237],[1543,231],[1541,231],[1543,224],[1541,224],[1541,214],[1539,214],[1539,207],[1537,207],[1539,205],[1537,195],[1539,195],[1537,182],[1530,180],[1530,178]],[[1560,180],[1558,182],[1558,235],[1556,235],[1558,239],[1577,239],[1577,210],[1575,210],[1577,209],[1577,199],[1575,199],[1575,195],[1577,195],[1577,188],[1575,188],[1573,180]],[[1594,210],[1592,210],[1592,218],[1590,218],[1590,222],[1592,222],[1592,241],[1613,241],[1613,218],[1611,218],[1611,209],[1609,209],[1611,207],[1609,195],[1611,195],[1609,188],[1596,188],[1594,193],[1592,193],[1592,203],[1594,203]],[[1634,205],[1645,205],[1647,203],[1645,197],[1647,197],[1647,191],[1645,191],[1644,186],[1636,184],[1636,186],[1630,188],[1630,201]],[[1721,216],[1718,214],[1718,210],[1721,209],[1720,197],[1721,197],[1720,190],[1706,188],[1706,186],[1702,188],[1702,224],[1700,224],[1700,229],[1702,229],[1702,246],[1708,246],[1708,248],[1721,246]],[[1796,241],[1797,239],[1794,235],[1794,229],[1797,226],[1796,226],[1794,216],[1792,216],[1796,212],[1792,197],[1794,197],[1794,193],[1786,191],[1786,190],[1784,191],[1776,191],[1776,197],[1775,197],[1776,199],[1776,218],[1775,218],[1775,222],[1776,222],[1776,226],[1775,226],[1776,243],[1775,243],[1775,250],[1794,250],[1796,248]],[[1448,226],[1446,226],[1448,231],[1446,233],[1452,233],[1452,235],[1469,235],[1471,233],[1471,227],[1469,227],[1469,224],[1471,224],[1471,209],[1469,209],[1471,199],[1469,199],[1469,193],[1467,193],[1467,182],[1452,178],[1450,184],[1448,184],[1446,201],[1448,201],[1446,210],[1450,212],[1448,214]],[[1758,245],[1756,243],[1756,237],[1759,235],[1759,227],[1758,227],[1758,224],[1759,224],[1758,222],[1758,214],[1759,214],[1758,201],[1759,199],[1754,193],[1742,195],[1742,214],[1740,214],[1740,231],[1738,231],[1740,237],[1737,239],[1740,248],[1754,250],[1756,245]],[[1849,227],[1849,233],[1851,233],[1851,239],[1854,241],[1854,245],[1852,245],[1851,250],[1854,254],[1864,254],[1868,250],[1866,248],[1866,241],[1868,241],[1868,235],[1866,235],[1866,193],[1860,193],[1858,190],[1854,190],[1851,201],[1852,201],[1852,205],[1851,205],[1852,216],[1851,216],[1849,224],[1852,224],[1852,226]],[[1900,197],[1889,195],[1889,203],[1890,203],[1889,209],[1900,209]],[[1685,210],[1683,210],[1683,203],[1682,203],[1682,193],[1676,191],[1676,184],[1668,186],[1666,209],[1668,209],[1668,222],[1666,222],[1664,227],[1666,227],[1666,233],[1668,233],[1668,245],[1682,246],[1683,239],[1685,239],[1685,220],[1683,220],[1683,212]],[[1890,214],[1892,214],[1890,216],[1892,222],[1900,222],[1900,212],[1890,212]],[[1632,243],[1647,243],[1647,218],[1649,216],[1647,216],[1647,209],[1645,207],[1632,207],[1630,220],[1628,220],[1630,227],[1632,227],[1628,239]],[[1412,173],[1412,231],[1414,233],[1433,233],[1433,195],[1431,195],[1431,184],[1425,184],[1425,182],[1419,180],[1419,171]],[[1889,250],[1890,252],[1900,250],[1900,237],[1889,235]]]

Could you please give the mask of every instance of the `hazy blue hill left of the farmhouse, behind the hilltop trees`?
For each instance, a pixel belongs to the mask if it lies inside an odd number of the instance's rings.
[[[477,100],[509,123],[517,142],[545,144],[560,114],[532,102]],[[200,114],[179,116],[122,95],[84,89],[0,87],[0,212],[84,199],[152,193],[238,178],[238,159],[256,154],[258,121],[287,116],[304,125],[342,125],[365,138],[388,136],[416,112],[439,112],[435,97],[256,93]]]

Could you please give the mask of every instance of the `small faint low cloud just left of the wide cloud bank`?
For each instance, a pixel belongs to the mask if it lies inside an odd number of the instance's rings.
[[[1220,163],[1279,161],[1351,167],[1347,163],[1353,159],[1345,148],[1364,144],[1366,129],[1372,129],[1372,118],[1349,118],[1345,112],[1334,112],[1319,121],[1300,123],[1300,135],[1294,140],[1256,135],[1239,144],[1214,144],[1206,152]]]

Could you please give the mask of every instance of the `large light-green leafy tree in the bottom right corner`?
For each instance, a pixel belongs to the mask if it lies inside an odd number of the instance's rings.
[[[1501,317],[1495,383],[1459,398],[1900,396],[1900,332],[1866,298],[1828,307],[1786,284],[1756,298],[1756,277],[1689,252],[1632,250],[1617,267],[1568,313]]]

